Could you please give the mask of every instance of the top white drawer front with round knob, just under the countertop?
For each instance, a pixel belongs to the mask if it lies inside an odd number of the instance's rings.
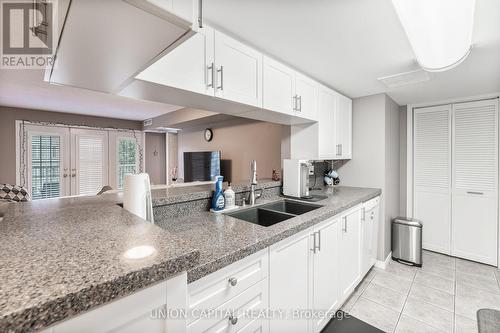
[[[268,260],[264,249],[189,284],[188,309],[215,309],[227,302],[267,277]]]

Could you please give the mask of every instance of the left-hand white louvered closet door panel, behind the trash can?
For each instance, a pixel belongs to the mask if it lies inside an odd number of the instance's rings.
[[[414,216],[425,249],[451,252],[451,105],[414,110]]]

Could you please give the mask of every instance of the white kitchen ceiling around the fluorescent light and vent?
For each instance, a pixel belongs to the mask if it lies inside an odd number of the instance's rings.
[[[476,0],[469,58],[425,83],[377,78],[418,69],[390,0],[206,0],[208,21],[350,97],[387,92],[401,105],[500,91],[500,1]]]

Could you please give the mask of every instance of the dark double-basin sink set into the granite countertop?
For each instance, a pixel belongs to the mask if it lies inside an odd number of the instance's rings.
[[[260,206],[241,209],[236,212],[227,213],[226,215],[264,227],[269,227],[273,224],[291,219],[321,207],[323,206],[285,199]]]

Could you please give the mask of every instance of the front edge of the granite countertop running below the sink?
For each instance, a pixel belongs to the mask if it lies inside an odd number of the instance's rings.
[[[360,203],[363,203],[363,202],[366,202],[370,199],[373,199],[375,197],[378,197],[379,195],[382,194],[382,190],[381,189],[374,189],[374,192],[373,193],[370,193],[368,195],[365,195],[364,197],[358,199],[358,200],[355,200],[351,203],[349,203],[348,205],[345,205],[345,206],[342,206],[338,209],[335,209],[335,210],[331,210],[331,211],[328,211],[328,212],[325,212],[323,213],[322,215],[320,216],[316,216],[314,218],[311,218],[310,220],[298,225],[298,226],[295,226],[293,228],[290,228],[290,229],[287,229],[277,235],[274,235],[270,238],[267,238],[267,239],[264,239],[264,240],[261,240],[255,244],[252,244],[252,245],[249,245],[245,248],[242,248],[242,249],[239,249],[235,252],[232,252],[232,253],[229,253],[229,254],[226,254],[224,257],[221,257],[221,258],[218,258],[214,261],[211,261],[211,262],[207,262],[205,264],[203,264],[202,266],[198,266],[198,267],[194,267],[193,269],[191,270],[188,270],[188,283],[192,283],[194,281],[197,281],[211,273],[214,273],[226,266],[229,266],[233,263],[235,263],[236,261],[238,260],[241,260],[245,257],[248,257],[249,255],[252,255],[256,252],[259,252],[260,250],[263,250],[275,243],[278,243],[279,241],[281,240],[284,240],[288,237],[291,237],[303,230],[306,230],[307,228],[310,228],[316,224],[319,224],[323,221],[325,221],[326,219],[329,219],[331,217],[334,217]]]

